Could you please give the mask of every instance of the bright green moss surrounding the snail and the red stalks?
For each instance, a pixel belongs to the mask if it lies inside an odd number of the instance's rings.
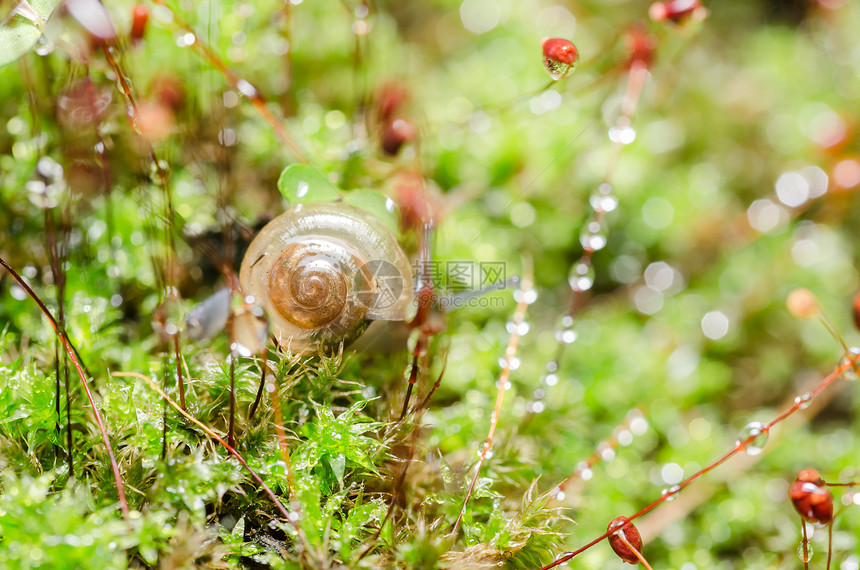
[[[131,515],[119,512],[80,378],[4,274],[0,566],[538,568],[810,390],[842,348],[819,321],[788,314],[788,293],[814,291],[848,345],[860,338],[850,310],[860,288],[860,203],[843,184],[850,176],[838,175],[840,167],[850,175],[860,155],[852,59],[860,7],[810,2],[792,20],[764,0],[706,2],[710,18],[698,25],[643,24],[658,40],[656,58],[635,141],[610,169],[624,33],[649,3],[170,3],[195,44],[211,46],[265,95],[309,164],[295,164],[248,89],[234,89],[232,76],[194,51],[165,9],[153,8],[144,41],[133,44],[133,3],[105,3],[120,34],[110,53],[136,97],[135,126],[116,71],[67,10],[50,23],[59,33],[41,46],[46,55],[32,53],[38,35],[9,39],[38,31],[15,16],[0,32],[0,65],[20,58],[0,69],[0,257],[53,314],[62,305]],[[45,14],[56,5],[32,4]],[[356,33],[363,24],[368,35]],[[562,82],[549,84],[542,69],[544,36],[573,39],[582,54]],[[420,136],[391,157],[379,149],[377,107],[394,79],[410,91],[398,113]],[[65,112],[81,85],[104,102],[97,122]],[[824,144],[840,132],[841,141]],[[168,174],[169,204],[152,154]],[[52,165],[63,170],[54,182],[45,174]],[[576,341],[553,382],[542,383],[570,302],[580,229],[607,172],[619,201],[603,218],[608,242],[592,260]],[[829,176],[827,191],[789,206],[775,190],[795,172],[812,185]],[[420,180],[426,193],[416,198],[404,180]],[[56,203],[45,208],[48,198]],[[465,291],[474,304],[448,307],[412,403],[427,396],[444,360],[442,382],[426,411],[402,420],[415,340],[408,327],[370,330],[328,356],[272,349],[265,363],[228,360],[227,334],[194,342],[180,334],[177,358],[172,339],[153,329],[169,267],[179,312],[187,311],[230,285],[221,268],[241,259],[254,228],[286,204],[333,199],[382,219],[412,260],[419,232],[401,227],[390,206],[433,210],[430,251],[452,289],[470,284],[448,264],[501,261],[510,278],[523,272],[524,253],[531,258],[539,297],[456,537],[510,337],[510,291]],[[68,248],[62,303],[50,236]],[[722,315],[725,330],[706,331],[708,315]],[[235,447],[294,520],[148,383],[114,374],[142,374],[178,400],[177,360],[188,413],[225,440],[235,384]],[[732,458],[637,521],[652,565],[796,567],[787,486],[804,467],[828,481],[860,477],[858,405],[857,382],[835,383],[774,428],[762,455]],[[600,444],[613,434],[620,445]],[[599,461],[583,467],[592,456]],[[553,495],[574,472],[565,497]],[[860,509],[851,488],[834,491],[837,503],[851,503],[837,517],[834,560],[852,567]],[[813,538],[819,566],[826,534]],[[623,566],[605,543],[575,563]]]

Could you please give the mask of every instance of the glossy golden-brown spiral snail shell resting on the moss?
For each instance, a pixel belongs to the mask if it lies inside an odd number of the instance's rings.
[[[254,238],[239,281],[293,352],[358,337],[370,320],[406,318],[409,260],[378,219],[344,203],[296,204]]]

